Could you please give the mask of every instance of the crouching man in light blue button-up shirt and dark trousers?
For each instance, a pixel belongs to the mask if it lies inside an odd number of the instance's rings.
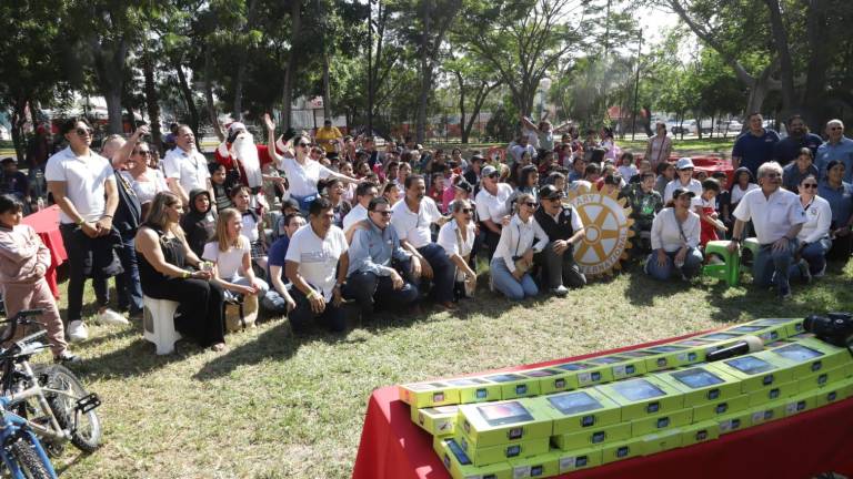
[[[343,296],[361,306],[362,319],[374,305],[403,308],[418,300],[418,287],[404,279],[411,271],[411,254],[400,246],[391,227],[391,206],[383,196],[368,204],[365,227],[359,228],[350,245],[350,267]]]

